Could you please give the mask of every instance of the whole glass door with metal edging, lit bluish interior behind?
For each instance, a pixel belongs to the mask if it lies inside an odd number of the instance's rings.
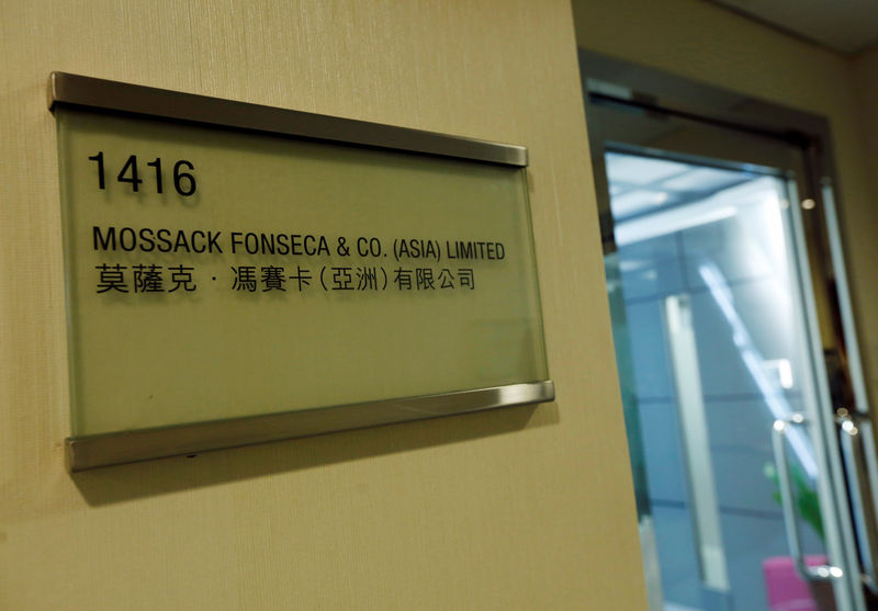
[[[651,611],[865,611],[808,151],[587,109]]]

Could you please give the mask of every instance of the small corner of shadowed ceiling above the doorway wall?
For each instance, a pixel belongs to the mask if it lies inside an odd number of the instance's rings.
[[[710,0],[842,53],[878,44],[878,0]]]

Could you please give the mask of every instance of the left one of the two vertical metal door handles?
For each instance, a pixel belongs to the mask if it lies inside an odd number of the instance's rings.
[[[790,414],[786,418],[778,418],[772,427],[772,449],[775,454],[777,465],[777,479],[780,487],[780,508],[784,512],[784,525],[787,531],[787,544],[796,572],[806,581],[831,581],[838,579],[844,572],[832,565],[808,566],[802,553],[801,539],[799,538],[799,519],[796,516],[792,499],[792,484],[789,476],[789,464],[787,462],[786,440],[787,429],[791,426],[806,423],[802,414]]]

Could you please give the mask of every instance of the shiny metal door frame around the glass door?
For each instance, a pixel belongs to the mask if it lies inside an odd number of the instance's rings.
[[[826,521],[832,520],[834,514],[840,524],[841,536],[837,543],[844,566],[856,567],[856,570],[847,572],[853,574],[845,574],[841,578],[847,584],[847,588],[843,590],[847,595],[843,593],[842,598],[849,598],[849,603],[844,604],[842,600],[840,603],[842,608],[865,610],[862,584],[865,581],[868,585],[875,580],[870,553],[875,551],[876,517],[870,501],[878,491],[878,461],[875,455],[873,427],[869,426],[869,401],[860,365],[856,313],[849,298],[844,244],[837,219],[837,196],[833,189],[837,181],[829,122],[818,115],[584,49],[579,49],[579,65],[605,252],[614,251],[616,246],[604,161],[606,146],[599,129],[596,129],[598,126],[595,122],[594,104],[620,105],[645,114],[690,120],[702,125],[787,143],[802,151],[804,176],[799,183],[799,201],[808,201],[808,204],[804,206],[804,214],[796,206],[793,217],[797,218],[797,239],[803,242],[800,251],[815,253],[810,258],[807,254],[800,258],[802,280],[806,283],[810,280],[811,283],[804,288],[804,301],[806,308],[810,310],[813,365],[818,376],[822,377],[818,380],[818,385],[823,391],[820,394],[826,396],[825,366],[822,359],[824,341],[821,341],[820,331],[814,325],[818,305],[808,288],[823,292],[828,297],[823,301],[829,304],[823,307],[829,307],[829,312],[823,312],[822,315],[837,321],[833,326],[831,346],[840,347],[847,355],[845,371],[854,401],[847,406],[833,405],[832,410],[824,409],[820,414],[822,445],[825,446],[829,459],[829,491],[834,505]],[[824,265],[821,267],[820,262]],[[833,414],[836,410],[837,414]],[[845,410],[848,412],[847,418]],[[842,425],[837,432],[836,419]],[[852,479],[849,484],[842,466],[843,451],[844,464]],[[857,507],[851,507],[852,500]],[[852,519],[852,513],[856,520]],[[862,563],[858,548],[863,550]]]

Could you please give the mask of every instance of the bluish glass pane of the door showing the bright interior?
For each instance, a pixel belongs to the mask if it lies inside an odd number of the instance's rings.
[[[644,541],[644,563],[661,575],[651,609],[818,609],[786,557],[770,448],[772,422],[813,400],[785,183],[622,152],[606,161],[615,339],[630,360],[620,378],[656,548],[651,561]],[[803,545],[819,564],[814,449],[801,427],[788,441]]]

